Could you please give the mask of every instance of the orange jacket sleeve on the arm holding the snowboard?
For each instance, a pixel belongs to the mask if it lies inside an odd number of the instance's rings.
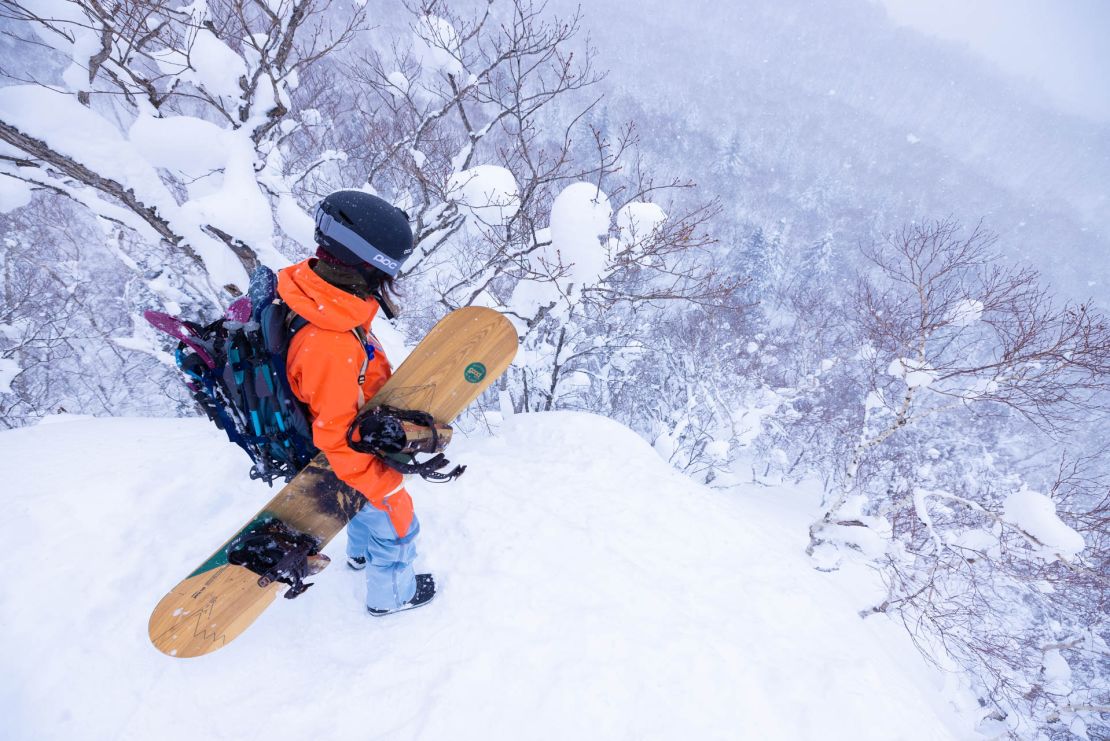
[[[335,475],[382,507],[385,496],[404,477],[376,456],[352,450],[346,430],[359,412],[359,370],[365,351],[350,333],[319,331],[309,326],[290,345],[289,380],[293,393],[309,405],[314,422],[312,441],[327,456]],[[376,392],[389,378],[384,358],[372,363],[363,392]]]

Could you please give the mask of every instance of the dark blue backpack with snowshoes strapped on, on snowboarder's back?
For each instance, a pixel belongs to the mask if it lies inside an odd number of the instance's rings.
[[[157,329],[179,341],[174,357],[193,399],[251,457],[251,478],[290,480],[319,451],[309,413],[285,375],[285,353],[307,321],[276,295],[278,278],[261,266],[248,295],[206,326],[144,312]]]

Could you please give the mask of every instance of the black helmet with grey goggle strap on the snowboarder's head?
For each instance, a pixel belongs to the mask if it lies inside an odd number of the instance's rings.
[[[408,214],[376,195],[335,191],[316,206],[316,242],[347,265],[373,265],[391,277],[413,251]]]

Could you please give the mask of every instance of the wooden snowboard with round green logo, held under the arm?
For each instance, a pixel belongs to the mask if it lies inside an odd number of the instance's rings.
[[[441,319],[367,407],[389,405],[430,413],[450,423],[508,367],[516,354],[513,325],[492,308],[467,306]],[[260,575],[228,562],[240,536],[272,518],[314,536],[323,548],[366,499],[341,481],[321,453],[150,616],[154,647],[172,657],[196,657],[234,640],[286,588],[260,586]]]

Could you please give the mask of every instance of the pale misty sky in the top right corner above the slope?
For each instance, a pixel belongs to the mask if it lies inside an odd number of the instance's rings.
[[[880,1],[899,23],[1037,80],[1061,109],[1110,121],[1110,0]]]

